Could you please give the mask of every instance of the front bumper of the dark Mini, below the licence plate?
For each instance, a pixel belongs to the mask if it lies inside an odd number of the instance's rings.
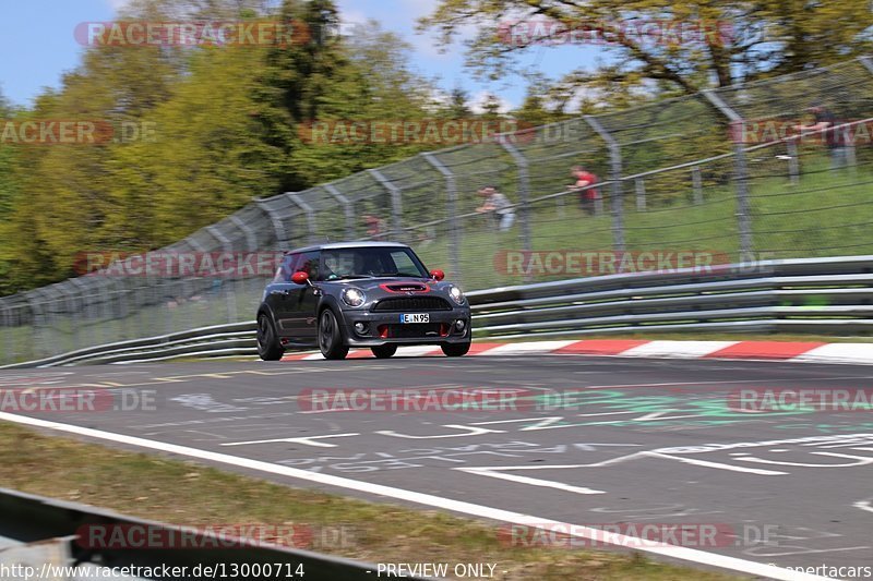
[[[349,347],[380,347],[384,344],[450,344],[470,341],[470,310],[459,306],[451,311],[426,311],[430,315],[428,324],[400,324],[400,313],[371,312],[358,308],[344,308],[343,328],[345,343]],[[456,324],[464,323],[464,330]],[[355,324],[366,326],[358,332]],[[447,332],[443,334],[443,331]]]

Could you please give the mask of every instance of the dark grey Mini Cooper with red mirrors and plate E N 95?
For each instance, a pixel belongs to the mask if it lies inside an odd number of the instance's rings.
[[[439,344],[457,358],[470,348],[470,307],[442,270],[428,271],[405,244],[349,242],[285,255],[258,310],[258,353],[318,344],[325,359],[350,347],[376,358],[402,344]]]

